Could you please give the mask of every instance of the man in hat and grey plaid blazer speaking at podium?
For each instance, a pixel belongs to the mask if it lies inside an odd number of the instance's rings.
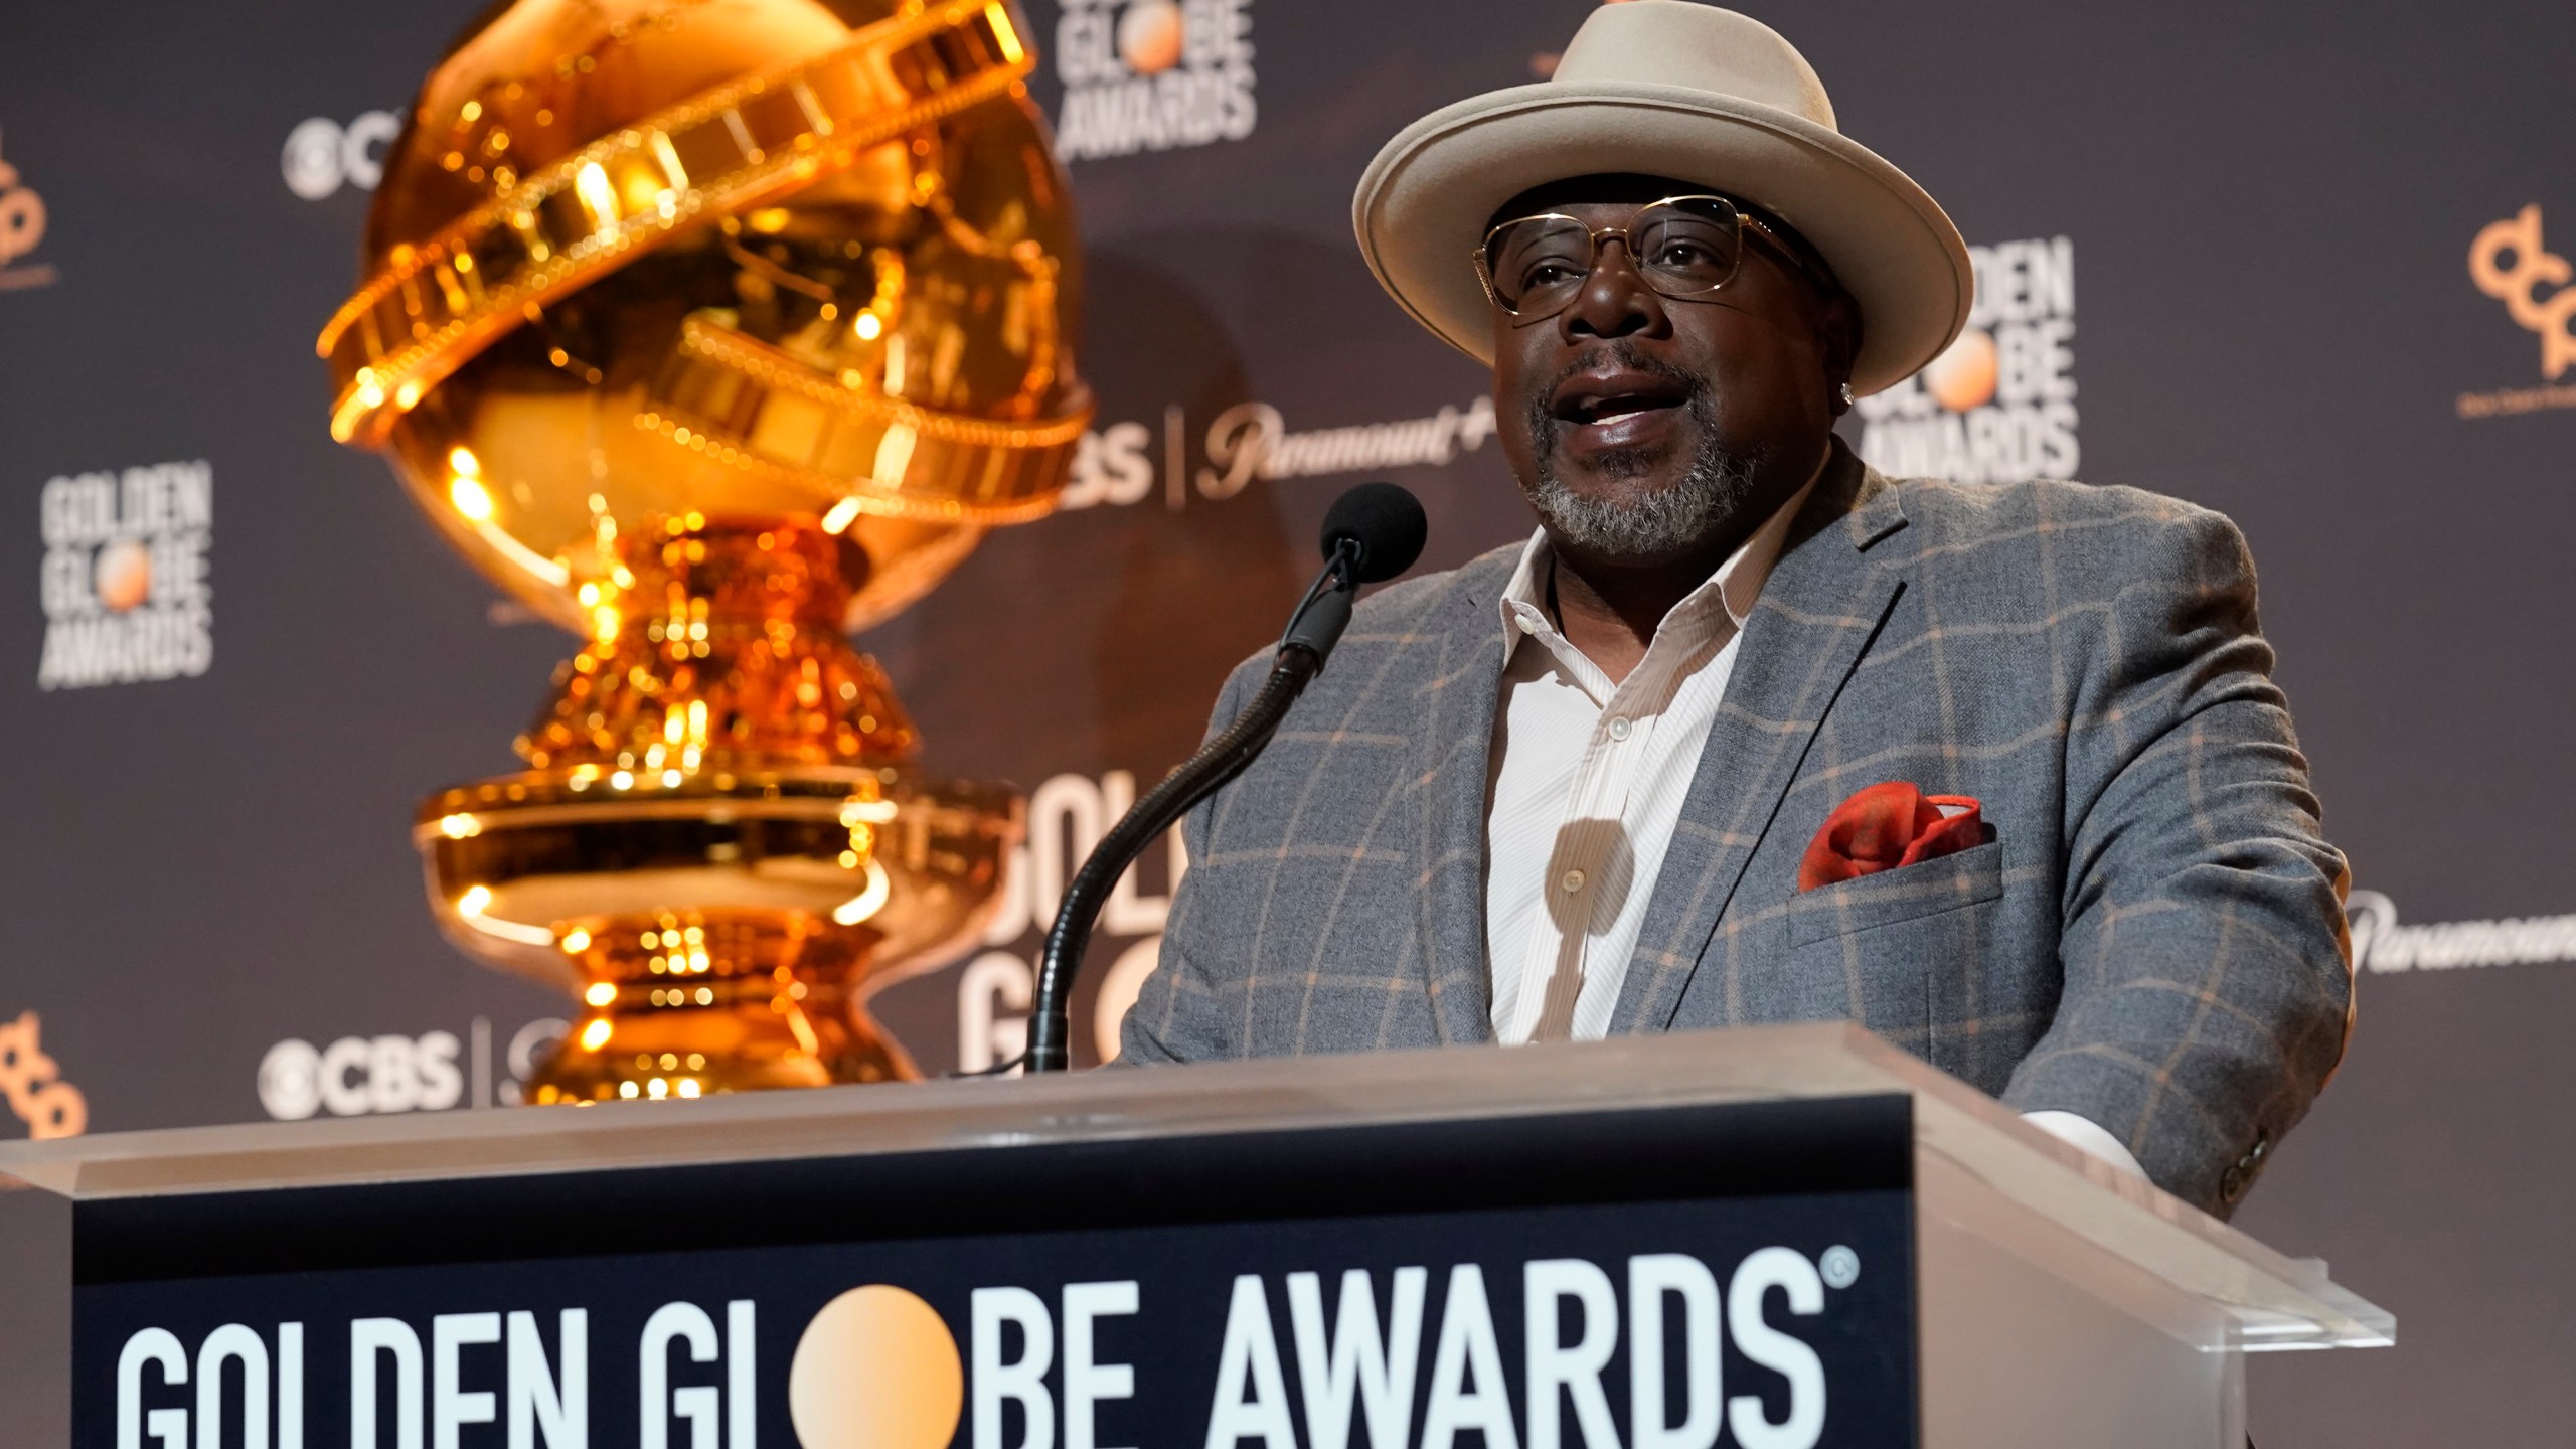
[[[1360,603],[1188,817],[1123,1060],[1839,1016],[2228,1212],[2352,1006],[2236,529],[1834,438],[1958,335],[1968,253],[1731,10],[1605,5],[1352,219],[1494,366],[1538,534]]]

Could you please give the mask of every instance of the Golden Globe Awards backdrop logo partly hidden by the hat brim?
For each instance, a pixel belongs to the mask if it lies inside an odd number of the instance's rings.
[[[1891,477],[2074,477],[2076,245],[1968,248],[1976,307],[1950,351],[1860,400],[1860,456]]]

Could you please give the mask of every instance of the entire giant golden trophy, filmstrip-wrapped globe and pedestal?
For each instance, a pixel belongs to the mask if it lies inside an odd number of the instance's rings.
[[[917,773],[848,629],[1054,508],[1090,420],[1007,3],[518,0],[420,90],[319,351],[477,567],[587,642],[415,838],[585,1006],[531,1101],[912,1075],[863,995],[981,928],[1020,802]]]

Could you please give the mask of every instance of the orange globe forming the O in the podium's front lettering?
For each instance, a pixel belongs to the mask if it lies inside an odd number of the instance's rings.
[[[822,1305],[788,1364],[788,1418],[804,1449],[948,1449],[966,1410],[956,1333],[894,1284]]]

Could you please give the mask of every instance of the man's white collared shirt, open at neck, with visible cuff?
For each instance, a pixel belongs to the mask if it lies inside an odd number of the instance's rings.
[[[1646,902],[1736,668],[1736,639],[1814,487],[1808,480],[1682,596],[1618,683],[1548,619],[1548,534],[1522,547],[1502,590],[1512,652],[1486,758],[1484,944],[1497,1042],[1610,1034]],[[2084,1116],[2032,1111],[2027,1122],[2146,1176],[2117,1137]]]

